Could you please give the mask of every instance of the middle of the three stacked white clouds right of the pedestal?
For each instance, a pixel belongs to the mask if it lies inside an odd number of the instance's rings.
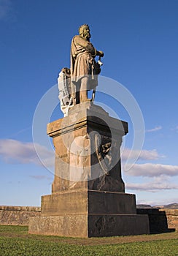
[[[127,171],[131,176],[156,177],[161,175],[178,176],[178,165],[161,165],[161,164],[135,164]]]

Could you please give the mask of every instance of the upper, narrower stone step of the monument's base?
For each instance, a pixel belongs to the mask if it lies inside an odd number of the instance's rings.
[[[135,195],[77,190],[42,196],[42,216],[123,213],[136,214]]]

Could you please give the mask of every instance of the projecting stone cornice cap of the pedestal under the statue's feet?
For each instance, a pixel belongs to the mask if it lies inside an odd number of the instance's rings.
[[[115,129],[115,132],[119,132],[120,135],[128,133],[127,122],[110,117],[103,108],[94,105],[93,102],[82,102],[70,110],[69,116],[47,124],[47,135],[55,137],[66,132],[73,132],[74,129],[80,127],[87,128],[87,124],[98,130],[109,131],[109,128],[112,128],[113,130]]]

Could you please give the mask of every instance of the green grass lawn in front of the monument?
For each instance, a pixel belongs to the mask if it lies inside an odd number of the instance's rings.
[[[63,238],[28,234],[28,227],[0,225],[1,256],[178,256],[178,232],[112,238]]]

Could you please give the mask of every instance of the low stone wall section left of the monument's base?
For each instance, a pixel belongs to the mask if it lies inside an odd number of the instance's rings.
[[[0,206],[0,225],[28,226],[29,217],[41,215],[41,207]]]

